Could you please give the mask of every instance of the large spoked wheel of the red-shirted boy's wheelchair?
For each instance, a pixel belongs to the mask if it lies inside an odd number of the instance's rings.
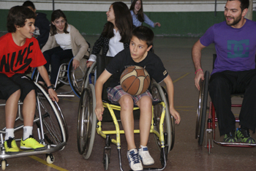
[[[48,94],[44,89],[37,86],[37,110],[35,121],[37,126],[43,130],[45,140],[52,146],[67,142],[67,124],[62,113],[56,109]],[[39,113],[42,115],[42,127],[39,121]]]

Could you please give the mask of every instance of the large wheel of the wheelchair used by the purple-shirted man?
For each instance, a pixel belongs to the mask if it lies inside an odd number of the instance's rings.
[[[209,72],[206,71],[204,80],[200,81],[200,91],[198,97],[197,107],[197,120],[195,127],[195,138],[198,137],[198,144],[203,144],[203,136],[206,126],[206,111],[207,111],[207,99],[208,99],[208,83],[209,83]]]

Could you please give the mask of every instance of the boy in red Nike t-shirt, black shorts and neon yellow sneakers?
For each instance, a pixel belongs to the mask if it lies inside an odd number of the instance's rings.
[[[34,12],[27,7],[12,7],[7,16],[9,33],[0,37],[0,99],[6,100],[4,148],[7,153],[19,151],[14,136],[19,99],[23,101],[24,119],[20,148],[45,149],[45,146],[39,144],[32,136],[36,109],[36,89],[34,83],[24,75],[29,66],[38,68],[40,75],[48,85],[50,98],[59,100],[50,85],[48,73],[43,66],[46,61],[42,56],[38,41],[33,37],[35,18]]]

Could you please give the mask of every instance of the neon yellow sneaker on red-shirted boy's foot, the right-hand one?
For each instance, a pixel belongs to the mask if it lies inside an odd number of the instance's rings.
[[[37,140],[34,139],[32,135],[30,135],[26,140],[23,140],[23,138],[21,139],[20,149],[34,149],[35,151],[42,151],[45,149],[45,145],[40,144],[39,142],[37,142]]]

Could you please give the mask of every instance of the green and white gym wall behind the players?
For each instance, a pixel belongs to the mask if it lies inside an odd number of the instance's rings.
[[[53,10],[52,0],[34,0],[37,12],[44,12],[50,20]],[[54,3],[54,9],[61,9],[72,24],[82,34],[100,34],[107,21],[106,12],[113,1],[71,1],[62,0]],[[124,1],[130,7],[131,1]],[[144,0],[143,9],[148,18],[161,23],[161,27],[152,28],[157,36],[200,37],[214,23],[225,20],[223,12],[226,1],[153,1]],[[11,7],[22,5],[23,1],[0,1],[0,31],[7,31],[7,14]],[[256,12],[253,12],[256,20]],[[143,23],[147,26],[146,23]]]

